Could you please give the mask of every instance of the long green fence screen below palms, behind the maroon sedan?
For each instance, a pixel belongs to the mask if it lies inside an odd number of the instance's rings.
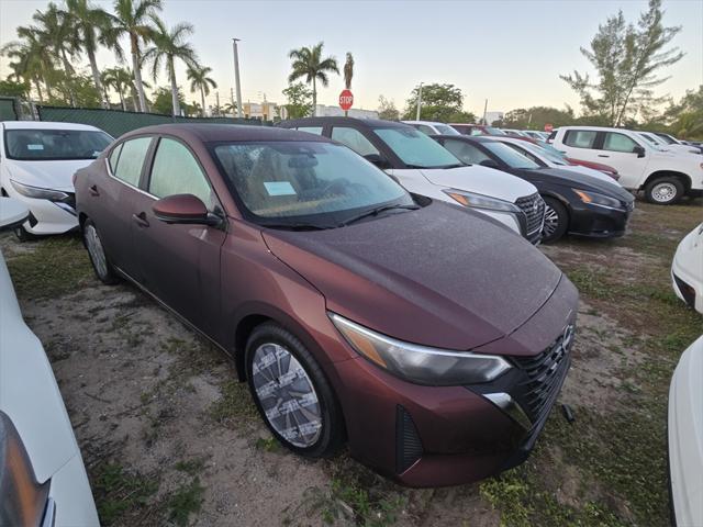
[[[250,124],[271,125],[257,119],[233,117],[177,117],[158,113],[123,112],[121,110],[103,110],[93,108],[64,108],[37,105],[41,121],[58,121],[63,123],[89,124],[104,130],[113,137],[119,137],[143,126],[168,123],[215,123],[215,124]]]

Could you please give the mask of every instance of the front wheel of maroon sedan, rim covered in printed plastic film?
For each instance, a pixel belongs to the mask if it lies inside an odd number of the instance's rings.
[[[336,396],[315,358],[293,334],[274,322],[256,327],[246,345],[246,377],[261,418],[288,449],[324,458],[343,444]]]

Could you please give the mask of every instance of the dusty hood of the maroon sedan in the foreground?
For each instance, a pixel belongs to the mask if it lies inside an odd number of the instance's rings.
[[[328,231],[265,229],[279,259],[313,284],[327,309],[384,335],[471,349],[524,324],[561,271],[500,223],[433,201]]]

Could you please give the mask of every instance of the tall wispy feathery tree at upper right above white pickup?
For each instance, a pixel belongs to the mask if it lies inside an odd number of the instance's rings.
[[[654,98],[654,88],[668,77],[658,74],[683,57],[678,47],[666,49],[681,27],[665,27],[662,18],[661,0],[649,0],[649,9],[640,14],[637,25],[627,24],[620,11],[599,25],[589,49],[581,47],[596,80],[576,70],[560,77],[580,96],[587,113],[605,116],[611,125],[620,126],[637,105],[661,102]]]

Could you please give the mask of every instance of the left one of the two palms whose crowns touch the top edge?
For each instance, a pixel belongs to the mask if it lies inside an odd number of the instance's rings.
[[[63,13],[71,22],[78,45],[88,55],[92,81],[98,92],[103,94],[102,106],[108,108],[110,101],[108,101],[107,91],[102,87],[96,52],[98,43],[101,43],[111,47],[118,58],[122,58],[122,48],[111,30],[115,19],[102,9],[96,8],[90,3],[90,0],[66,0],[66,10]]]

